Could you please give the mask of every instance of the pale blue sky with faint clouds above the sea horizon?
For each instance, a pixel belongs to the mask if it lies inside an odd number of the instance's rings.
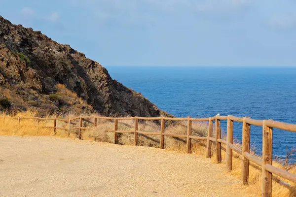
[[[296,66],[296,0],[0,0],[103,66]]]

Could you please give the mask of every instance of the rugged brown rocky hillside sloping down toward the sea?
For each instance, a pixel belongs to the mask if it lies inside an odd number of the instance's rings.
[[[35,108],[40,114],[170,116],[69,45],[1,16],[0,95],[10,102],[2,108]]]

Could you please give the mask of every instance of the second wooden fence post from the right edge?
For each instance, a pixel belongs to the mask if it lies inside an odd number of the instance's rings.
[[[242,137],[242,154],[244,152],[250,153],[250,131],[251,125],[246,123],[246,117],[244,117],[243,121],[243,137]],[[246,185],[249,182],[249,160],[243,156],[242,161],[242,184]]]

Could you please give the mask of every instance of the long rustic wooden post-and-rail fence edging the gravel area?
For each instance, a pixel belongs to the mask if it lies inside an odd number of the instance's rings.
[[[159,135],[160,136],[160,148],[164,148],[165,136],[170,137],[179,137],[187,139],[187,153],[191,153],[191,140],[206,140],[206,157],[211,158],[212,156],[212,143],[216,144],[216,160],[217,163],[222,162],[222,144],[226,145],[226,170],[232,170],[232,151],[242,155],[242,173],[241,173],[241,182],[242,184],[248,184],[249,179],[249,166],[250,161],[262,167],[262,183],[261,183],[261,192],[262,197],[271,197],[272,190],[272,174],[275,174],[279,177],[285,178],[292,182],[296,183],[296,175],[285,171],[283,169],[277,168],[272,165],[272,130],[277,128],[285,131],[296,132],[296,125],[287,124],[283,122],[277,122],[273,120],[253,120],[248,117],[239,118],[234,116],[215,116],[211,118],[167,118],[167,117],[156,117],[156,118],[146,118],[146,117],[126,117],[126,118],[111,118],[111,117],[76,117],[73,119],[56,119],[56,118],[20,118],[20,117],[7,117],[3,116],[3,121],[5,118],[14,118],[18,119],[20,122],[21,119],[36,119],[37,123],[40,120],[53,120],[52,128],[53,132],[56,133],[57,129],[68,130],[70,133],[70,126],[72,121],[79,119],[79,127],[74,127],[72,129],[78,129],[78,138],[81,139],[82,130],[92,129],[97,127],[97,119],[107,119],[114,121],[114,143],[118,143],[118,133],[134,133],[135,135],[135,145],[138,144],[138,134],[145,135]],[[82,127],[83,120],[93,119],[93,127]],[[118,131],[118,120],[134,120],[134,130],[133,131]],[[161,129],[159,132],[146,132],[138,131],[138,120],[160,120]],[[57,127],[57,121],[67,121],[68,129]],[[174,134],[165,132],[165,121],[187,121],[187,134]],[[208,136],[193,136],[191,135],[191,126],[192,122],[203,122],[208,121]],[[226,140],[221,138],[221,121],[227,121],[227,134]],[[213,123],[215,122],[215,132],[216,137],[213,137]],[[242,129],[242,148],[237,147],[233,144],[233,122],[239,122],[243,124]],[[262,127],[262,159],[255,157],[250,154],[250,131],[251,125]]]

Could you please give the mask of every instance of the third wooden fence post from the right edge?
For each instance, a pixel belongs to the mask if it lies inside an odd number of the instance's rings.
[[[227,138],[226,138],[226,171],[232,170],[232,149],[229,147],[229,143],[233,143],[233,121],[227,117]]]

